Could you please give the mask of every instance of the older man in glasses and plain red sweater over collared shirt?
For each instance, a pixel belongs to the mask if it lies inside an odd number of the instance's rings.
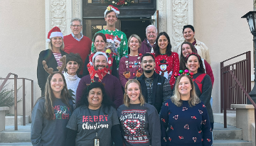
[[[82,21],[80,18],[73,18],[70,21],[70,29],[72,33],[70,35],[65,35],[64,40],[64,51],[73,53],[78,53],[82,62],[85,62],[85,58],[90,55],[90,48],[92,46],[92,40],[82,35]],[[85,64],[86,65],[86,64]],[[83,65],[78,77],[82,77]]]

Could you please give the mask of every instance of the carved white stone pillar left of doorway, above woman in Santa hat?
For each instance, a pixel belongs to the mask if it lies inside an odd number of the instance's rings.
[[[63,35],[71,33],[72,18],[82,19],[82,0],[45,0],[46,1],[46,38],[54,26],[58,26]],[[48,43],[46,43],[48,49]]]

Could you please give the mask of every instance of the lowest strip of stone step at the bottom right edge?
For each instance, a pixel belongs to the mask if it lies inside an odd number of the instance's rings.
[[[252,146],[245,140],[213,140],[213,146]]]

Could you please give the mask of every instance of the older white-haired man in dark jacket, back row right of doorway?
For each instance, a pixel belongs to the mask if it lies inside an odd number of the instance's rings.
[[[153,25],[149,25],[146,27],[146,38],[142,42],[142,46],[139,47],[139,53],[143,55],[147,52],[154,52],[156,48],[156,36],[157,36],[157,29]]]

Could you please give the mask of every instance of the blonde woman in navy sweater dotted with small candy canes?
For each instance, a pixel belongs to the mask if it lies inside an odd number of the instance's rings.
[[[212,145],[208,112],[196,95],[191,77],[181,74],[174,90],[174,96],[161,109],[161,145]]]

